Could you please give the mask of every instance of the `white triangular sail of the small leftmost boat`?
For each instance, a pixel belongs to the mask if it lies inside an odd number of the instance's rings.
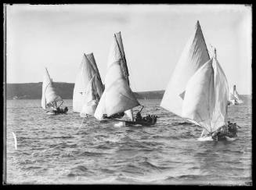
[[[53,85],[48,70],[45,68],[45,74],[42,83],[41,107],[46,109],[50,105],[53,106],[58,101],[63,101],[63,99],[56,93],[56,88]]]

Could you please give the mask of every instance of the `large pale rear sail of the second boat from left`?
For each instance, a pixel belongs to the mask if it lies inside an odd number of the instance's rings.
[[[73,111],[80,113],[83,104],[83,94],[88,86],[89,81],[95,74],[92,64],[88,57],[84,54],[81,64],[79,66],[78,75],[74,84],[73,92]]]

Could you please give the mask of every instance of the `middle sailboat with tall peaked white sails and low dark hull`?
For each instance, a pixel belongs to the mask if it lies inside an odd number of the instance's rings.
[[[121,32],[114,34],[114,42],[110,48],[105,78],[105,91],[99,100],[94,117],[97,120],[113,118],[118,113],[124,113],[122,120],[125,124],[138,124],[133,118],[132,109],[140,106],[129,86],[128,66],[124,55]],[[115,117],[114,117],[115,118]],[[118,118],[118,117],[117,117]],[[155,122],[140,122],[150,125]]]

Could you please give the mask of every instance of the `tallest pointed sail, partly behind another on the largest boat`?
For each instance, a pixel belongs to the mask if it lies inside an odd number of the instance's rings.
[[[210,59],[204,36],[197,21],[196,30],[189,38],[172,73],[160,106],[182,117],[182,102],[186,85],[193,74]]]

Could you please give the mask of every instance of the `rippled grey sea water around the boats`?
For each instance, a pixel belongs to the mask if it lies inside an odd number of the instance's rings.
[[[8,100],[7,183],[251,185],[251,98],[243,100],[229,106],[229,120],[242,127],[233,142],[197,141],[200,127],[160,100],[139,100],[142,116],[160,117],[153,127],[83,120],[71,100],[57,116],[44,114],[41,100]]]

